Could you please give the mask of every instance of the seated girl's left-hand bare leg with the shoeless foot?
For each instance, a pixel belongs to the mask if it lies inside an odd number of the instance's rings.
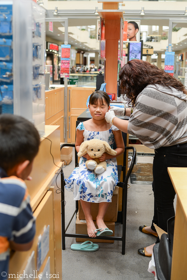
[[[80,199],[80,201],[86,219],[88,235],[89,237],[96,237],[95,233],[97,233],[97,231],[94,232],[96,230],[96,227],[94,225],[93,218],[91,216],[91,202],[87,202],[82,199]]]

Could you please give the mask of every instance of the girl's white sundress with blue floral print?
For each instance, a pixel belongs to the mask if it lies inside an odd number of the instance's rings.
[[[83,123],[77,129],[84,130],[84,141],[90,139],[100,139],[109,143],[113,147],[113,130],[118,130],[114,125],[106,131],[88,131]],[[66,181],[66,189],[72,191],[74,200],[85,200],[89,202],[111,202],[113,190],[118,182],[118,171],[116,158],[106,161],[106,170],[101,174],[96,174],[93,170],[88,170],[85,166],[87,159],[82,156],[79,160],[79,167],[76,167]]]

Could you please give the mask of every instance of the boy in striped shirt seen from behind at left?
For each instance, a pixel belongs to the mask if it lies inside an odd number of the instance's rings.
[[[35,219],[24,180],[31,180],[39,145],[30,121],[0,115],[0,280],[8,279],[10,249],[27,251],[33,244]]]

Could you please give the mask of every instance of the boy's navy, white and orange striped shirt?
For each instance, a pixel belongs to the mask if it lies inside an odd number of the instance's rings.
[[[30,196],[23,180],[7,177],[0,168],[0,280],[8,275],[9,241],[19,244],[30,242],[35,236],[35,219],[30,207]]]

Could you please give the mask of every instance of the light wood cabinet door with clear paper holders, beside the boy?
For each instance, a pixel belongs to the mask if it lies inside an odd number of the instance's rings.
[[[35,251],[35,266],[37,268],[37,243],[38,237],[40,234],[42,235],[44,232],[44,226],[49,226],[49,252],[44,259],[44,262],[38,272],[40,274],[48,257],[50,256],[50,273],[55,273],[55,265],[54,265],[54,224],[53,224],[53,195],[51,191],[48,191],[44,196],[39,206],[34,212],[34,217],[36,218],[36,234],[34,238],[34,243],[32,248],[26,252],[18,252],[16,251],[11,259],[10,259],[10,268],[9,273],[20,274],[23,273],[23,270],[26,267],[27,261],[32,253]]]

